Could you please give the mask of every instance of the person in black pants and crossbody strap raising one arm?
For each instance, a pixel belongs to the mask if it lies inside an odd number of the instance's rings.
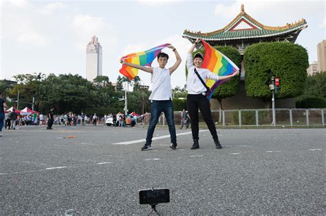
[[[195,43],[191,45],[191,48],[188,51],[186,67],[188,69],[188,76],[187,76],[187,108],[188,108],[188,115],[191,118],[191,132],[193,134],[193,146],[191,149],[198,149],[199,148],[199,118],[198,118],[198,108],[204,117],[204,121],[208,126],[210,134],[213,136],[213,140],[215,143],[215,147],[217,149],[221,149],[221,143],[219,143],[219,138],[217,136],[215,123],[212,119],[212,114],[210,112],[210,104],[209,100],[206,97],[206,86],[199,80],[198,75],[195,71],[202,77],[202,80],[206,81],[206,78],[210,80],[225,80],[230,77],[234,77],[239,75],[239,71],[233,73],[232,75],[225,75],[219,76],[208,69],[202,68],[202,63],[204,57],[202,53],[196,53],[193,58],[193,50],[197,43],[199,43],[200,38],[197,38]]]

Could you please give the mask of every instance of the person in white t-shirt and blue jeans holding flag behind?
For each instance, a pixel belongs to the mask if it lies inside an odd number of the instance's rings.
[[[177,67],[179,67],[181,58],[173,45],[169,44],[168,48],[172,49],[172,51],[175,53],[175,58],[177,58],[177,61],[169,69],[165,68],[169,56],[166,53],[162,52],[157,55],[157,62],[160,67],[155,68],[132,64],[125,62],[122,58],[120,59],[120,63],[122,64],[126,64],[129,67],[134,67],[147,73],[151,73],[152,93],[149,96],[149,99],[152,101],[151,121],[149,123],[149,129],[147,130],[146,143],[144,147],[142,147],[142,151],[151,149],[155,126],[161,115],[161,112],[164,112],[166,121],[169,125],[169,132],[171,136],[170,147],[171,149],[176,149],[177,147],[177,136],[175,134],[175,125],[173,119],[173,102],[171,100],[171,74],[177,69]]]

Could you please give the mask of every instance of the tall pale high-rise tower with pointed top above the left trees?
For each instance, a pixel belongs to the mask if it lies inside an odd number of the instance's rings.
[[[86,79],[93,82],[98,75],[102,75],[102,46],[93,36],[86,49]]]

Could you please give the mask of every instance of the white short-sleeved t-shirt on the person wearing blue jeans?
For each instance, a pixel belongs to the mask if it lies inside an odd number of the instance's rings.
[[[153,89],[149,99],[156,101],[171,99],[171,77],[169,69],[154,67],[151,82]]]

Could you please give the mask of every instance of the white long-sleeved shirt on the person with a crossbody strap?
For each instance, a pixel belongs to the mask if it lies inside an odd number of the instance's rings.
[[[188,76],[187,76],[187,91],[189,95],[198,95],[200,93],[206,93],[206,88],[197,77],[194,69],[195,65],[193,65],[193,56],[191,53],[188,53],[186,66],[188,69]],[[219,80],[219,75],[212,73],[208,69],[197,68],[197,72],[199,73],[202,80],[206,82],[206,79],[210,80]]]

